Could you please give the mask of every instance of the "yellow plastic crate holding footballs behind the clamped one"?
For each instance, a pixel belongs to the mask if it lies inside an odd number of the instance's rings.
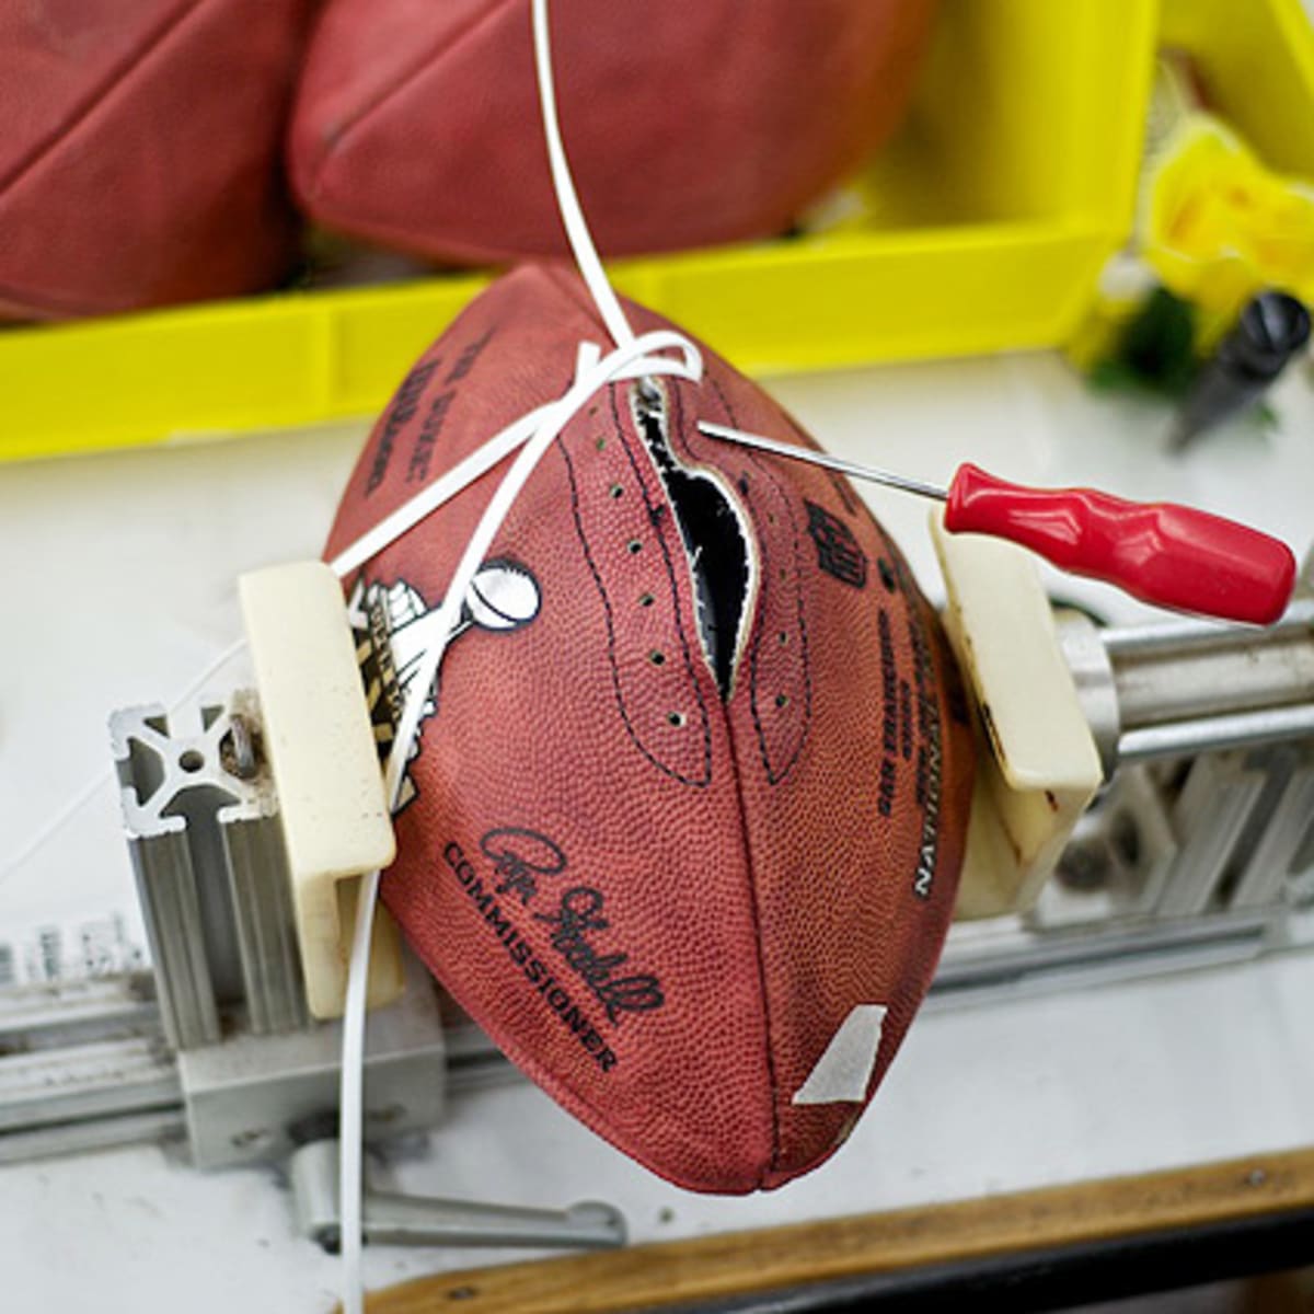
[[[1130,223],[1155,24],[1154,0],[943,0],[862,229],[616,283],[756,373],[1056,344]],[[373,414],[484,281],[0,332],[0,456]]]

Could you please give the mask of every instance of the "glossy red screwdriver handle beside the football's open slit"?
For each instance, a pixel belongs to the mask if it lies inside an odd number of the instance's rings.
[[[1123,502],[1093,489],[1030,489],[961,465],[945,527],[1038,552],[1142,602],[1267,625],[1290,600],[1296,558],[1277,539],[1172,502]]]

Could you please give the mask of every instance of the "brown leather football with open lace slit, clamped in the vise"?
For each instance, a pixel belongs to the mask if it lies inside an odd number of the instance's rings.
[[[636,331],[665,323],[628,313]],[[564,268],[489,288],[380,418],[326,552],[560,396],[581,339],[606,344]],[[899,1047],[953,908],[972,741],[937,618],[848,485],[698,434],[706,418],[807,442],[708,353],[703,384],[660,386],[671,457],[715,474],[740,516],[721,528],[752,540],[723,696],[635,386],[570,423],[494,544],[537,606],[453,639],[382,894],[566,1109],[682,1187],[749,1192],[851,1130],[866,1100],[792,1097],[857,1005],[887,1009],[866,1099]],[[405,595],[396,615],[423,624],[499,474],[348,581],[356,610]],[[373,614],[357,637],[386,745],[393,653],[419,631],[389,637]]]

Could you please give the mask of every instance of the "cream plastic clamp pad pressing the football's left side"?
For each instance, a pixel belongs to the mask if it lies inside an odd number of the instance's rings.
[[[340,1017],[360,876],[397,855],[342,587],[319,561],[238,581],[279,795],[306,1001]],[[369,1007],[402,992],[397,925],[374,916]]]

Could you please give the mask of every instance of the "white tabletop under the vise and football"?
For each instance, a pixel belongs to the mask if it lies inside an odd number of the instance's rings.
[[[770,386],[841,455],[933,478],[972,459],[1022,480],[1171,495],[1303,553],[1309,378],[1302,367],[1284,380],[1275,431],[1238,424],[1183,461],[1158,451],[1164,411],[1092,398],[1047,355]],[[172,702],[238,635],[238,572],[318,553],[360,438],[343,426],[0,466],[0,941],[130,907],[105,715]],[[870,501],[937,591],[925,507],[879,490]],[[1116,618],[1146,615],[1099,586],[1064,590]],[[234,665],[210,687],[239,674]],[[527,1083],[456,1099],[427,1150],[389,1173],[401,1189],[468,1198],[610,1200],[649,1240],[1310,1144],[1311,1000],[1306,953],[936,1012],[845,1150],[748,1200],[660,1183]],[[491,1257],[380,1247],[367,1277],[386,1285]],[[272,1171],[202,1175],[154,1147],[0,1169],[0,1307],[24,1314],[317,1314],[336,1282],[335,1261],[293,1235]]]

